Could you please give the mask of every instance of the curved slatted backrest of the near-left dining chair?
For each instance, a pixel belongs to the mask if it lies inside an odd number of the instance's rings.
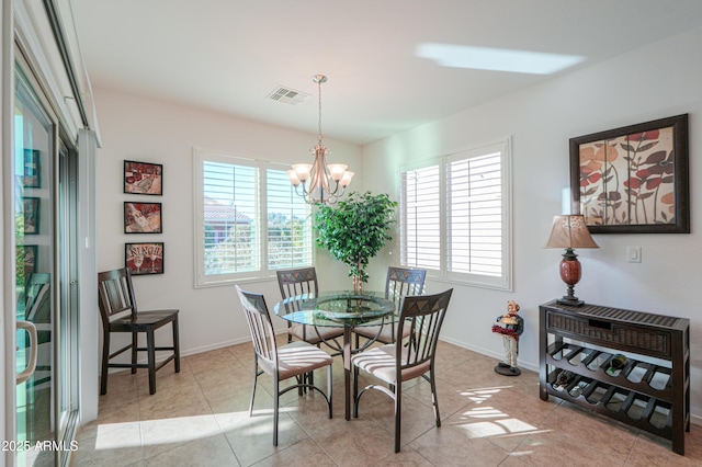
[[[278,366],[278,345],[265,299],[261,294],[242,291],[238,285],[235,287],[249,324],[253,352],[259,357],[261,367],[270,372]]]

